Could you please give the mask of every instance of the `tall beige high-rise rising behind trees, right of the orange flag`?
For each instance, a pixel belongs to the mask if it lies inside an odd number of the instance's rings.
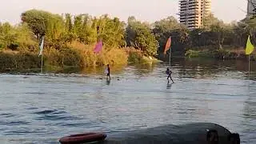
[[[203,25],[203,20],[210,14],[211,0],[180,0],[179,19],[182,24],[193,30]]]

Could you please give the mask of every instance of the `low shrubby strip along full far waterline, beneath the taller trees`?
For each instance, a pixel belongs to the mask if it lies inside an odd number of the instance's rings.
[[[158,54],[158,58],[146,56],[141,50],[133,47],[118,48],[104,47],[100,54],[94,54],[93,45],[84,45],[72,42],[60,49],[46,47],[43,51],[43,72],[46,73],[87,73],[95,67],[105,68],[110,64],[112,71],[120,70],[127,65],[150,66],[158,62],[169,62],[169,55]],[[243,48],[222,49],[208,47],[195,47],[187,49],[185,54],[174,52],[174,58],[208,58],[220,60],[248,61],[248,55]],[[256,60],[255,52],[250,55],[250,60]],[[41,71],[41,57],[38,50],[1,50],[0,51],[1,73],[39,73]],[[98,68],[97,68],[98,69]]]

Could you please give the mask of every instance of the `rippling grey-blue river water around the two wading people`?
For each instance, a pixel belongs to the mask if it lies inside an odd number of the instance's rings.
[[[58,143],[166,124],[215,122],[256,143],[256,66],[239,61],[174,61],[127,66],[107,82],[90,74],[0,74],[0,143]],[[100,73],[99,73],[100,72]],[[102,79],[103,78],[103,79]]]

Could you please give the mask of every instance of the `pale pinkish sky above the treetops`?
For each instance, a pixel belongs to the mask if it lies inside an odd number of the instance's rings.
[[[17,24],[22,12],[31,9],[55,14],[109,14],[126,21],[129,16],[155,22],[168,16],[178,18],[178,0],[1,0],[0,22]],[[224,22],[246,16],[247,0],[212,0],[212,12]]]

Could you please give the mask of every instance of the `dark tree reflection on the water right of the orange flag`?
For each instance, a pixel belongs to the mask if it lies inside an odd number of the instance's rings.
[[[248,62],[243,61],[213,61],[209,59],[188,59],[186,61],[179,59],[172,64],[173,66],[182,66],[178,71],[179,77],[183,76],[193,78],[213,78],[219,75],[230,75],[230,72],[237,71],[238,74],[248,76]],[[255,62],[250,64],[251,78],[255,80],[256,65]]]

